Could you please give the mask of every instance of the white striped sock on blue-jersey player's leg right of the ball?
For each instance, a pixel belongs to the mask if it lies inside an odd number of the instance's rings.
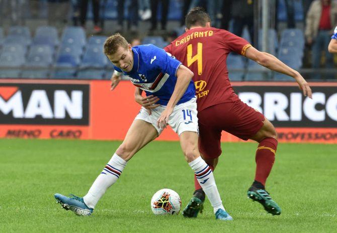
[[[225,209],[222,205],[220,194],[218,188],[216,187],[211,168],[201,157],[196,158],[191,163],[189,163],[189,165],[195,172],[200,186],[211,202],[214,213],[216,213],[218,209]]]

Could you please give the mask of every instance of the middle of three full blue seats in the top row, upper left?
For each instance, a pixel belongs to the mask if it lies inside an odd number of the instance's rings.
[[[33,43],[37,45],[49,45],[50,47],[58,46],[60,42],[56,28],[49,26],[38,27]]]

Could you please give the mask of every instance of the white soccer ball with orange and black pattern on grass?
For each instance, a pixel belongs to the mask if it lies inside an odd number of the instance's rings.
[[[178,214],[181,207],[180,196],[172,189],[160,189],[151,199],[151,209],[155,215]]]

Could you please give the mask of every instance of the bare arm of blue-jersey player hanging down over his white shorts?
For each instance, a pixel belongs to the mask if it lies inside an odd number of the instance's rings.
[[[159,119],[157,120],[157,125],[161,129],[165,128],[168,124],[168,118],[173,112],[174,107],[180,100],[180,98],[185,93],[190,81],[193,77],[193,72],[184,65],[180,65],[177,70],[177,83],[175,89],[172,93],[170,100],[168,100],[165,110],[161,113]]]

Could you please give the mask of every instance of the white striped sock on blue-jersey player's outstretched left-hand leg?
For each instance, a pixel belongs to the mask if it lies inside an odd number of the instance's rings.
[[[95,208],[105,191],[118,180],[125,166],[126,161],[115,153],[101,174],[96,178],[87,195],[83,197],[84,202],[89,208]]]

